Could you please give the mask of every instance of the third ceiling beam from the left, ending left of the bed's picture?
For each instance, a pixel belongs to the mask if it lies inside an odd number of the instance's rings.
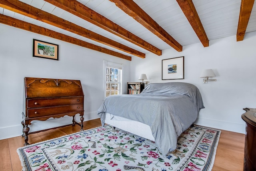
[[[58,6],[65,11],[70,12],[108,32],[123,38],[137,46],[148,50],[156,55],[162,55],[162,50],[156,48],[152,44],[142,40],[138,36],[132,34],[128,30],[125,30],[121,26],[117,25],[116,23],[112,22],[108,18],[100,15],[99,13],[95,12],[94,10],[88,8],[84,4],[76,1],[76,0],[45,0],[50,4]]]

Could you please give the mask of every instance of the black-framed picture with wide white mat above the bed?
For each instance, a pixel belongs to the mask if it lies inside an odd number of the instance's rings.
[[[162,80],[184,79],[184,56],[162,60]]]

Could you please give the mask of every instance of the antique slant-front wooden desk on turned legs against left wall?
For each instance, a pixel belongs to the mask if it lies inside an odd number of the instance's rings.
[[[30,128],[28,125],[33,120],[45,121],[50,117],[59,118],[68,115],[73,117],[72,124],[70,125],[78,124],[81,126],[81,130],[83,130],[84,93],[79,80],[25,77],[24,81],[22,112],[24,145],[29,144],[28,132]],[[78,113],[81,116],[81,124],[74,120],[75,115]],[[46,130],[48,129],[41,131]]]

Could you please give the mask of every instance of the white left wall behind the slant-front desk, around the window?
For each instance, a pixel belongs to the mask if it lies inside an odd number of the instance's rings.
[[[59,60],[32,57],[33,38],[58,44]],[[130,81],[128,60],[0,24],[0,139],[22,134],[24,77],[80,80],[85,95],[84,121],[98,118],[104,97],[103,60],[124,64],[124,83]],[[76,120],[80,122],[79,115]],[[30,131],[72,123],[72,118],[46,122],[30,125]]]

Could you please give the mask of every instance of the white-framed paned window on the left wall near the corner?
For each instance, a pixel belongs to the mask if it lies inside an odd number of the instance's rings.
[[[104,61],[105,66],[105,97],[122,94],[122,64]]]

